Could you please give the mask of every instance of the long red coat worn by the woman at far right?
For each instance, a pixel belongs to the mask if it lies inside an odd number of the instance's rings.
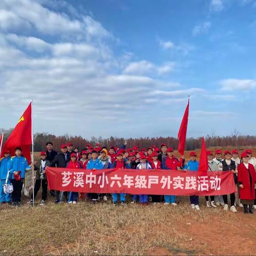
[[[240,199],[254,200],[255,199],[254,184],[256,182],[256,173],[255,173],[254,166],[252,164],[249,164],[248,167],[252,177],[251,184],[250,184],[250,175],[245,165],[242,163],[242,164],[239,164],[237,167],[238,182],[239,184],[242,184],[244,186],[244,188],[239,188],[239,194],[240,194],[239,197]]]

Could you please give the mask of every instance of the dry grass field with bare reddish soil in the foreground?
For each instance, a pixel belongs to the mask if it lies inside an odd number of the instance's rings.
[[[0,205],[0,255],[256,255],[256,213],[208,209],[204,197],[200,211],[188,197],[177,207],[26,202]]]

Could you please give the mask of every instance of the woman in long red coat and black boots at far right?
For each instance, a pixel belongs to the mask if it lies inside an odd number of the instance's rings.
[[[244,206],[244,213],[253,213],[253,203],[255,200],[256,173],[254,166],[249,163],[249,155],[242,153],[243,163],[238,165],[238,182],[240,187],[239,197]]]

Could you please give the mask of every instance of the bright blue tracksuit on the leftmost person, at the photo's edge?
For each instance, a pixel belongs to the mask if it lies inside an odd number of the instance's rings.
[[[4,157],[0,162],[0,203],[11,202],[11,194],[4,194],[3,185],[6,181],[7,173],[10,169],[11,157]],[[11,181],[11,174],[9,174],[9,179],[7,180],[7,184]]]

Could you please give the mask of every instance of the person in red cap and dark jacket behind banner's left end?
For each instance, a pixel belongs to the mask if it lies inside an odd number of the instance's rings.
[[[70,155],[67,154],[67,146],[61,145],[60,152],[54,157],[53,161],[50,164],[50,167],[66,168],[67,163],[70,161]],[[63,192],[61,195],[64,195],[68,201],[68,193]],[[60,191],[55,190],[55,204],[61,203],[62,198],[60,198]]]

